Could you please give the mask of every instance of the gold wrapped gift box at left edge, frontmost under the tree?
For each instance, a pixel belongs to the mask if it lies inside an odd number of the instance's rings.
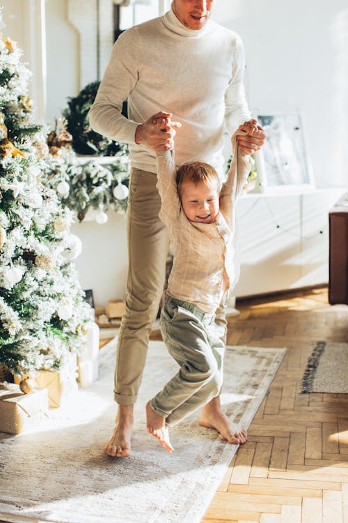
[[[0,432],[20,434],[42,423],[48,416],[47,389],[24,394],[19,386],[0,387]]]

